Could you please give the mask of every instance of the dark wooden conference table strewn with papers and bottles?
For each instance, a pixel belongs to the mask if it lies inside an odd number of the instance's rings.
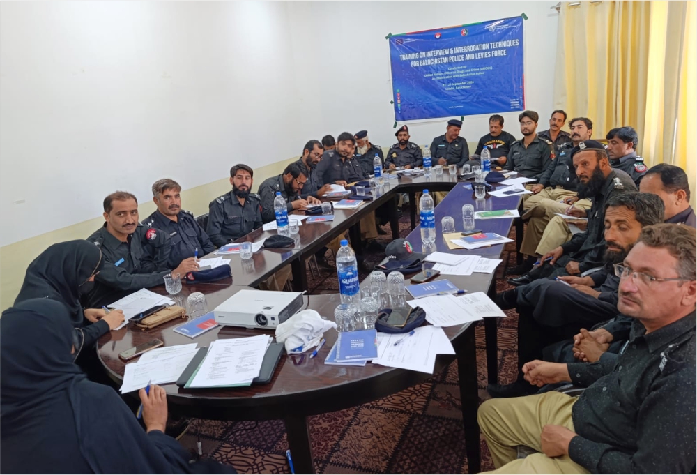
[[[390,190],[385,191],[383,196],[378,197],[372,203],[361,206],[358,210],[337,210],[335,221],[331,223],[300,226],[300,234],[296,236],[295,249],[264,249],[249,259],[252,261],[251,263],[243,262],[239,255],[232,255],[230,264],[233,269],[233,278],[205,284],[184,285],[182,294],[188,296],[192,292],[201,292],[206,295],[208,308],[213,309],[239,292],[240,289],[258,284],[282,266],[289,263],[292,265],[298,261],[304,262],[308,254],[316,252],[325,243],[335,239],[339,233],[343,232],[342,229],[346,230],[347,226],[358,225],[358,221],[362,216],[365,216],[365,213],[373,211],[376,206],[388,202],[389,199],[394,199],[396,193],[411,193],[413,190],[429,187],[431,190],[435,188],[431,183],[439,182],[436,181],[435,177],[429,180],[423,176],[415,177],[415,179],[400,179],[397,186],[392,186]],[[446,183],[450,188],[456,185],[454,179],[450,179],[449,176],[443,176],[440,183],[442,183],[441,187],[447,186]],[[377,204],[375,204],[376,202]],[[424,250],[425,252],[439,250],[454,254],[469,253],[498,258],[503,251],[501,245],[477,251],[447,249],[441,235],[440,220],[443,216],[452,216],[456,223],[456,230],[461,231],[461,206],[466,203],[471,203],[475,205],[475,209],[479,207],[480,210],[516,209],[519,197],[487,197],[486,200],[477,202],[471,190],[466,190],[464,186],[456,186],[436,206],[435,246],[431,245],[431,249],[424,249],[420,239],[420,229],[416,228],[408,236],[408,240],[413,244],[415,250]],[[370,206],[372,204],[374,206]],[[512,219],[477,220],[476,225],[484,231],[496,232],[505,236],[510,230],[511,223]],[[392,229],[398,229],[398,227],[393,225]],[[255,234],[256,237],[245,236],[246,239],[256,241],[264,233],[259,233],[257,230],[252,234]],[[317,242],[313,242],[311,236],[315,236]],[[300,240],[300,246],[297,245],[297,239]],[[447,276],[455,285],[468,289],[470,293],[489,292],[493,285],[493,277],[493,273]],[[232,280],[234,280],[234,285]],[[164,286],[151,290],[167,294]],[[330,318],[339,304],[338,294],[306,295],[304,299],[305,308],[311,308],[319,312],[320,315]],[[118,358],[118,353],[153,338],[164,341],[165,346],[197,342],[199,347],[204,347],[218,338],[238,338],[262,333],[274,335],[273,330],[220,326],[192,340],[174,333],[174,326],[181,323],[182,320],[177,319],[147,331],[128,325],[121,330],[112,331],[102,336],[97,345],[98,355],[105,365],[108,375],[120,384],[123,380],[125,365]],[[495,375],[496,320],[487,319],[485,324],[487,324],[487,360],[490,360],[489,347],[491,347],[494,355],[493,373]],[[493,330],[490,331],[489,327]],[[450,338],[457,356],[438,355],[434,373],[443,371],[457,357],[468,466],[470,473],[476,473],[480,471],[480,430],[477,425],[478,396],[474,325],[450,326],[444,330]],[[491,344],[490,333],[493,333]],[[365,404],[403,391],[431,377],[431,375],[420,372],[380,365],[366,365],[365,367],[325,365],[324,359],[334,345],[337,333],[329,331],[325,333],[325,338],[327,338],[326,344],[314,359],[309,359],[307,354],[305,358],[300,355],[282,356],[273,379],[268,384],[236,389],[183,389],[176,384],[164,384],[162,387],[167,391],[169,410],[175,415],[214,420],[283,419],[296,472],[314,473],[308,416]],[[489,365],[490,377],[491,370],[492,366]]]

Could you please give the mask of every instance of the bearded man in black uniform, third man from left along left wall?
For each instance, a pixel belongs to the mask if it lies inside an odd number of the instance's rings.
[[[250,193],[254,170],[242,163],[230,169],[232,191],[208,204],[206,232],[215,246],[225,246],[263,225],[261,199]]]

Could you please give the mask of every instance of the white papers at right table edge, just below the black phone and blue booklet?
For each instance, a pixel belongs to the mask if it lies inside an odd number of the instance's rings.
[[[462,325],[486,317],[505,317],[503,310],[484,292],[454,296],[452,294],[407,301],[411,308],[426,311],[426,321],[434,326]]]

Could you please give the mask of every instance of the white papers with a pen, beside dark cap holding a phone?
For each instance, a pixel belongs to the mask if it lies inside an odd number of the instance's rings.
[[[378,333],[378,357],[372,363],[433,374],[438,354],[455,354],[450,339],[441,328],[420,326],[413,334]]]

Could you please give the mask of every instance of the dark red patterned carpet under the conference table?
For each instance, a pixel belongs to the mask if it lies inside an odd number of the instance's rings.
[[[408,213],[400,219],[400,235],[410,232]],[[390,226],[384,227],[391,240]],[[514,234],[514,230],[512,230]],[[514,236],[510,236],[514,239]],[[377,264],[384,255],[366,253]],[[332,262],[330,254],[328,261]],[[497,270],[498,290],[509,288],[502,279],[515,266],[515,243],[509,243],[503,265]],[[308,273],[312,294],[338,292],[335,271],[323,270],[319,278]],[[363,280],[366,276],[361,275]],[[516,376],[517,314],[501,319],[498,329],[500,382]],[[486,387],[487,363],[484,326],[476,329],[477,371],[480,389]],[[468,473],[459,399],[457,361],[426,382],[388,398],[339,412],[310,418],[315,469],[319,474],[457,474]],[[220,422],[193,419],[181,439],[195,451],[201,440],[204,457],[232,465],[240,473],[289,474],[285,452],[288,441],[283,421]],[[482,470],[493,469],[482,439]]]

